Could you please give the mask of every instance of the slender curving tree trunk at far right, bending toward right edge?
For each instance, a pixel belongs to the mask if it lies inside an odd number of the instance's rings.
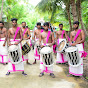
[[[88,35],[88,34],[87,34],[87,31],[86,31],[86,29],[85,29],[83,20],[82,20],[82,15],[81,15],[81,0],[77,0],[77,9],[78,9],[78,16],[79,16],[81,28],[85,31],[86,35]]]

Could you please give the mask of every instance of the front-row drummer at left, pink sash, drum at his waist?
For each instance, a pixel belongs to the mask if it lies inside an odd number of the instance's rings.
[[[9,46],[17,45],[19,47],[18,51],[20,52],[20,58],[22,58],[22,53],[21,53],[22,51],[20,46],[20,42],[23,39],[22,29],[21,27],[17,27],[16,18],[11,19],[11,21],[12,21],[12,28],[10,28],[8,31],[8,44]],[[23,75],[27,75],[26,73],[24,73],[24,64],[22,61],[19,64],[13,64],[11,63],[11,59],[9,59],[8,72],[6,75],[10,75],[10,72],[16,72],[16,71],[22,71]]]

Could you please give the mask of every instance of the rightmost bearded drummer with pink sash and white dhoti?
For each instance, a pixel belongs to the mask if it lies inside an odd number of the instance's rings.
[[[73,23],[74,31],[70,33],[70,45],[76,46],[78,48],[79,57],[82,59],[81,65],[78,67],[72,67],[69,65],[69,73],[74,76],[83,75],[83,56],[86,56],[84,51],[85,33],[83,30],[79,29],[79,22],[75,21]],[[70,75],[69,74],[69,75]]]

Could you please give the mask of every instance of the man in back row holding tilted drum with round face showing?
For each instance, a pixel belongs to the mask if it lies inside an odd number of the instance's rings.
[[[56,41],[57,41],[57,46],[59,45],[59,43],[63,40],[68,40],[67,38],[67,34],[65,32],[65,30],[63,30],[63,24],[59,24],[59,28],[60,30],[56,32]],[[58,63],[66,63],[67,59],[65,54],[59,53],[57,51],[57,61],[56,64]]]

